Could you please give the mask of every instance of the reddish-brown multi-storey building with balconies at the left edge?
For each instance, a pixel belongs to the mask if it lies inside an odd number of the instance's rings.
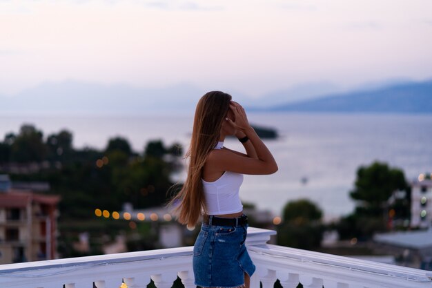
[[[59,200],[14,189],[8,175],[0,175],[0,265],[56,258]]]

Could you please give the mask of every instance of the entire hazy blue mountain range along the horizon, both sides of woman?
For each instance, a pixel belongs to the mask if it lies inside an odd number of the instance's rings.
[[[262,97],[226,92],[248,111],[432,113],[432,80],[393,81],[382,85],[370,84],[364,86],[367,88],[346,92],[333,84],[317,82]],[[12,97],[0,95],[0,115],[193,113],[197,100],[205,92],[188,84],[134,88],[81,81],[45,83]]]

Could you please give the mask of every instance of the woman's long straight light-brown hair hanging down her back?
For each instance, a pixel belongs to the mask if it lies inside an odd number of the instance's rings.
[[[180,201],[175,209],[181,224],[193,227],[199,216],[206,213],[206,201],[202,185],[202,169],[206,163],[208,153],[215,148],[219,141],[222,122],[228,113],[231,95],[211,91],[206,93],[197,104],[193,120],[193,131],[190,146],[185,155],[190,158],[188,175],[183,187],[175,195],[170,204]]]

